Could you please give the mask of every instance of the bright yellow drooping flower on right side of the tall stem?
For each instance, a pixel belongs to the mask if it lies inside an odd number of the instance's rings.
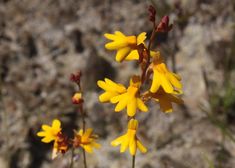
[[[150,68],[153,70],[153,81],[150,88],[152,93],[157,92],[160,86],[167,93],[173,93],[174,87],[182,89],[180,76],[170,72],[159,56],[153,56],[153,63]]]

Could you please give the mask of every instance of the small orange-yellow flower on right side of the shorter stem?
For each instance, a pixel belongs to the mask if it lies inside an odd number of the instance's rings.
[[[83,130],[81,129],[78,133],[75,134],[73,146],[81,146],[88,153],[92,153],[93,148],[100,148],[101,145],[95,142],[98,136],[92,134],[92,132],[93,130],[91,128],[88,128],[87,130],[85,130],[85,132],[83,132]]]

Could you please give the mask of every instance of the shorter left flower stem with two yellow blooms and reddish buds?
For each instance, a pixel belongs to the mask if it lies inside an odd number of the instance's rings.
[[[83,110],[84,99],[82,97],[80,84],[81,76],[82,74],[79,71],[76,74],[72,74],[70,80],[78,86],[78,91],[72,96],[72,103],[79,107],[79,112],[82,116],[82,129],[74,131],[73,138],[68,138],[62,131],[60,120],[54,119],[51,126],[42,125],[42,131],[37,133],[37,136],[42,137],[42,142],[53,142],[52,159],[56,158],[59,153],[66,153],[69,149],[72,149],[73,160],[73,151],[77,148],[82,148],[84,152],[83,156],[85,152],[92,153],[94,148],[100,148],[100,144],[96,142],[98,136],[93,133],[93,129],[85,128],[85,112]],[[71,161],[71,165],[72,163]],[[86,165],[84,166],[86,167]]]

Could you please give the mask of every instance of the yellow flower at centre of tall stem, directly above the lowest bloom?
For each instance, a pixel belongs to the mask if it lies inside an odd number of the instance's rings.
[[[111,98],[111,103],[117,103],[115,112],[120,112],[127,108],[127,115],[132,117],[135,115],[137,108],[143,112],[148,111],[148,108],[140,98],[139,87],[140,77],[133,76],[127,90],[124,93]]]

